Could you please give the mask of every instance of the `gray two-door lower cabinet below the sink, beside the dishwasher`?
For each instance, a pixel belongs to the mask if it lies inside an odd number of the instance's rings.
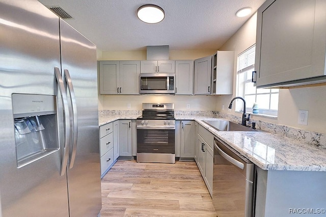
[[[213,189],[213,144],[214,136],[211,132],[198,124],[196,142],[197,166],[203,176],[209,194],[212,196]]]

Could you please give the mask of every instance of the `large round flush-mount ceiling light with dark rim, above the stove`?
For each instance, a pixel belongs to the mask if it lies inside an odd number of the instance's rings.
[[[137,10],[138,18],[146,23],[158,23],[164,15],[164,10],[157,5],[143,5]]]

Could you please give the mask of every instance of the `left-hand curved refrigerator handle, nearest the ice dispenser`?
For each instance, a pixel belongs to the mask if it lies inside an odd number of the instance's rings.
[[[67,92],[63,83],[63,79],[60,73],[60,69],[58,67],[55,67],[55,74],[56,79],[62,99],[63,104],[63,112],[64,112],[64,124],[65,124],[65,145],[63,149],[63,157],[61,162],[61,170],[60,175],[65,175],[66,168],[67,168],[67,162],[69,157],[69,140],[70,140],[70,123],[69,123],[69,107],[68,107],[68,100],[67,100]]]

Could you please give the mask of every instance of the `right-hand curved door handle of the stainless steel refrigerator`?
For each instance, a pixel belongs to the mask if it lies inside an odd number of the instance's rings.
[[[70,165],[69,169],[73,168],[75,158],[76,158],[76,150],[77,150],[77,135],[78,135],[78,123],[77,123],[77,104],[76,104],[76,97],[75,92],[73,90],[73,85],[70,77],[70,73],[68,69],[64,70],[65,72],[65,79],[67,83],[67,87],[70,93],[70,101],[71,101],[71,107],[72,107],[72,135],[71,135],[71,141],[72,141],[72,151],[70,156]]]

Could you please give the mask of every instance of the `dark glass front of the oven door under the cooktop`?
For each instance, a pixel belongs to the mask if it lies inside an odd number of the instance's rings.
[[[175,129],[137,129],[137,153],[175,153]]]

